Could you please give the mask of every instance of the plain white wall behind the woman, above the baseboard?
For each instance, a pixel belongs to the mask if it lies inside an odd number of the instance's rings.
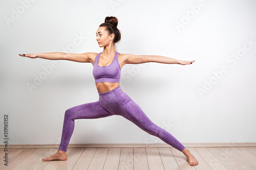
[[[60,142],[65,111],[98,100],[93,66],[18,54],[99,53],[103,48],[95,32],[114,15],[122,32],[119,53],[196,60],[186,66],[123,67],[121,87],[154,123],[182,143],[256,142],[255,7],[253,0],[5,1],[0,7],[1,138],[9,114],[9,144]],[[55,68],[46,74],[43,67],[50,66]],[[40,76],[46,78],[35,85]],[[37,88],[30,91],[28,83]],[[152,142],[162,141],[111,116],[75,120],[70,143]]]

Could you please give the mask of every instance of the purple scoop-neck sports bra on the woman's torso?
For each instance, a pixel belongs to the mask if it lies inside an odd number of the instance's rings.
[[[95,79],[95,83],[100,83],[100,82],[119,83],[121,68],[118,63],[118,53],[116,52],[114,59],[110,65],[99,66],[98,65],[99,56],[101,53],[99,53],[96,56],[94,65],[93,65],[93,77]]]

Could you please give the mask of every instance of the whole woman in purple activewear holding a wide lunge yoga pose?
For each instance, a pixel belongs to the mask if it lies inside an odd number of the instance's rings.
[[[158,62],[186,65],[195,61],[180,61],[162,56],[119,54],[115,51],[115,43],[121,39],[121,33],[117,29],[117,24],[117,18],[111,16],[106,17],[105,22],[99,26],[96,32],[96,40],[99,47],[104,47],[103,52],[99,54],[66,54],[60,52],[20,54],[20,56],[30,58],[39,57],[49,60],[70,60],[93,64],[93,76],[99,93],[99,101],[79,105],[65,112],[59,150],[54,155],[43,159],[43,161],[67,160],[67,148],[74,131],[75,119],[121,115],[142,130],[159,137],[164,142],[181,151],[187,157],[190,165],[197,165],[197,159],[173,135],[155,125],[119,86],[121,68],[125,64]]]

